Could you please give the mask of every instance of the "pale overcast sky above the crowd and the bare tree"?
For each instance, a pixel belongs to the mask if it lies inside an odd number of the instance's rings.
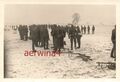
[[[68,24],[79,13],[79,24],[115,24],[114,5],[40,5],[17,4],[5,6],[5,24]]]

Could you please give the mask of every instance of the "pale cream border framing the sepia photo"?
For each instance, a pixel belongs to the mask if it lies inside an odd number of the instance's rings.
[[[103,5],[103,4],[114,4],[116,5],[116,24],[117,24],[117,59],[116,59],[116,79],[77,79],[77,80],[71,80],[71,79],[65,79],[65,80],[60,80],[60,79],[4,79],[4,5],[6,4],[98,4],[98,5]],[[80,81],[94,81],[94,82],[113,82],[116,81],[118,82],[120,79],[120,55],[119,55],[119,49],[120,49],[120,0],[1,0],[0,1],[0,82],[36,82],[36,81],[43,81],[43,82],[56,82],[56,81],[68,81],[68,82],[80,82]]]

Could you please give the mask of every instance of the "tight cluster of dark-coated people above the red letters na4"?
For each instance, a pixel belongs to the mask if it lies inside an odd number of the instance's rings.
[[[64,48],[64,38],[66,36],[67,29],[60,25],[50,25],[51,28],[51,36],[53,38],[53,48],[54,50],[60,51],[60,49]]]

